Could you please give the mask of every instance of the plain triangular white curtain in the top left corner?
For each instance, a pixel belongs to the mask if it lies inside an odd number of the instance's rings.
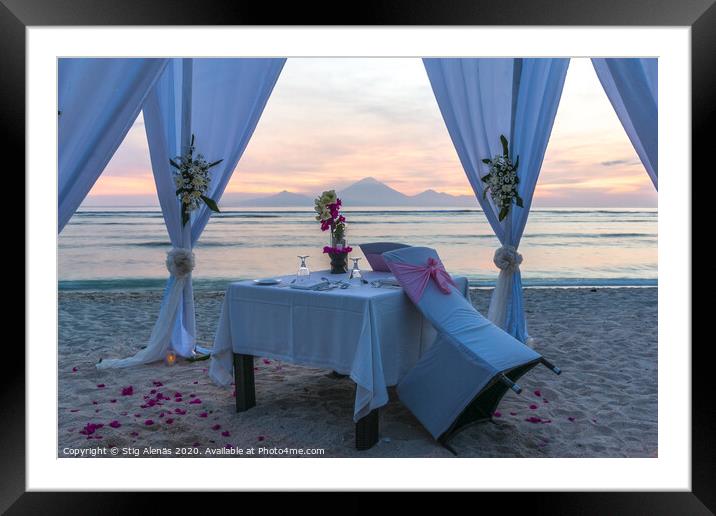
[[[58,233],[112,159],[166,64],[58,60]]]

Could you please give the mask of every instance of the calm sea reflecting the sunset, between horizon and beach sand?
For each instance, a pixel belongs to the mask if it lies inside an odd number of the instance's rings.
[[[479,210],[346,210],[348,242],[435,247],[450,272],[491,285],[499,243]],[[196,249],[195,288],[295,271],[297,254],[327,269],[327,243],[310,209],[223,208]],[[170,248],[157,208],[84,209],[59,237],[60,289],[162,288]],[[655,209],[534,209],[522,238],[526,285],[656,285]],[[365,264],[365,260],[361,262]],[[367,266],[367,264],[365,264]]]

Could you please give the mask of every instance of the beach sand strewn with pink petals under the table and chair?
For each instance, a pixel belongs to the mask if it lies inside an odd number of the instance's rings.
[[[473,290],[472,295],[486,312],[490,292]],[[144,345],[159,299],[159,293],[140,292],[60,294],[60,456],[67,456],[67,447],[197,445],[203,452],[231,444],[322,448],[327,457],[452,457],[394,392],[381,410],[381,441],[356,451],[353,383],[331,378],[325,370],[257,359],[258,403],[241,414],[234,411],[231,390],[209,379],[208,362],[97,371],[100,357],[129,356]],[[196,295],[203,343],[213,339],[222,299],[223,293]],[[535,348],[564,372],[556,376],[538,366],[526,374],[520,380],[522,396],[508,392],[494,423],[472,426],[454,439],[460,456],[655,457],[657,289],[528,289],[525,303]],[[134,393],[123,396],[127,386]],[[172,401],[141,408],[144,396],[156,397],[152,389]],[[176,392],[182,401],[173,401]],[[189,403],[195,398],[201,403]],[[174,413],[175,408],[186,414]],[[527,421],[532,416],[547,422]],[[146,425],[147,419],[154,423]],[[112,421],[121,426],[110,427]],[[88,439],[80,433],[88,423],[104,427]]]

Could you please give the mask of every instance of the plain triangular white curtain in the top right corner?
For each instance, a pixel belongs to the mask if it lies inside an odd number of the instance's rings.
[[[595,58],[592,64],[639,159],[658,189],[658,60]]]

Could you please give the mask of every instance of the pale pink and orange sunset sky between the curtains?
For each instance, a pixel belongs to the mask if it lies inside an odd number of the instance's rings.
[[[315,195],[374,177],[409,195],[472,195],[422,61],[288,59],[227,186]],[[141,114],[83,206],[157,205]],[[572,59],[535,207],[656,207],[588,59]]]

